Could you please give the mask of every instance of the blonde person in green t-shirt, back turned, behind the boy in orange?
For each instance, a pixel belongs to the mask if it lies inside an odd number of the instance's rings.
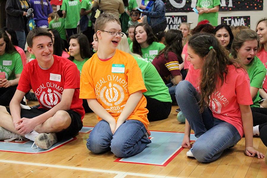
[[[126,35],[122,37],[117,49],[131,54],[141,69],[144,84],[147,88],[147,91],[143,94],[147,99],[148,120],[166,119],[171,112],[172,101],[168,87],[161,79],[157,69],[147,59],[130,51]]]

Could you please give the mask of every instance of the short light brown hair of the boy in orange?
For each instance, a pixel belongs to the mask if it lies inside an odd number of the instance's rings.
[[[105,28],[106,24],[109,23],[110,21],[117,22],[120,25],[120,20],[116,16],[114,16],[110,13],[100,14],[98,16],[98,18],[96,19],[95,32],[98,30],[103,30]]]

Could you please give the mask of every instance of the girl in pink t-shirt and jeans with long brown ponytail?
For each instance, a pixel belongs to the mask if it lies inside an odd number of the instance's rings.
[[[245,134],[245,153],[263,158],[253,148],[252,98],[246,71],[230,59],[211,34],[200,33],[188,42],[191,65],[176,87],[177,103],[186,118],[182,147],[200,162],[217,160]],[[248,97],[249,96],[249,97]],[[190,144],[191,128],[198,138]]]

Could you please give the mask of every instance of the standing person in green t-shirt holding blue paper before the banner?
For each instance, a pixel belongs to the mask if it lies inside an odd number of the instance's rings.
[[[220,0],[198,0],[196,4],[198,10],[198,22],[209,20],[212,26],[218,25],[218,11]]]

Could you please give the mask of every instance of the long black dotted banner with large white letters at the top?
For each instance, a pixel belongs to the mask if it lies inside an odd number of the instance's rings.
[[[213,0],[206,1],[206,4]],[[197,0],[163,0],[166,5],[166,12],[193,12]],[[220,0],[219,11],[248,11],[263,10],[263,0]]]

